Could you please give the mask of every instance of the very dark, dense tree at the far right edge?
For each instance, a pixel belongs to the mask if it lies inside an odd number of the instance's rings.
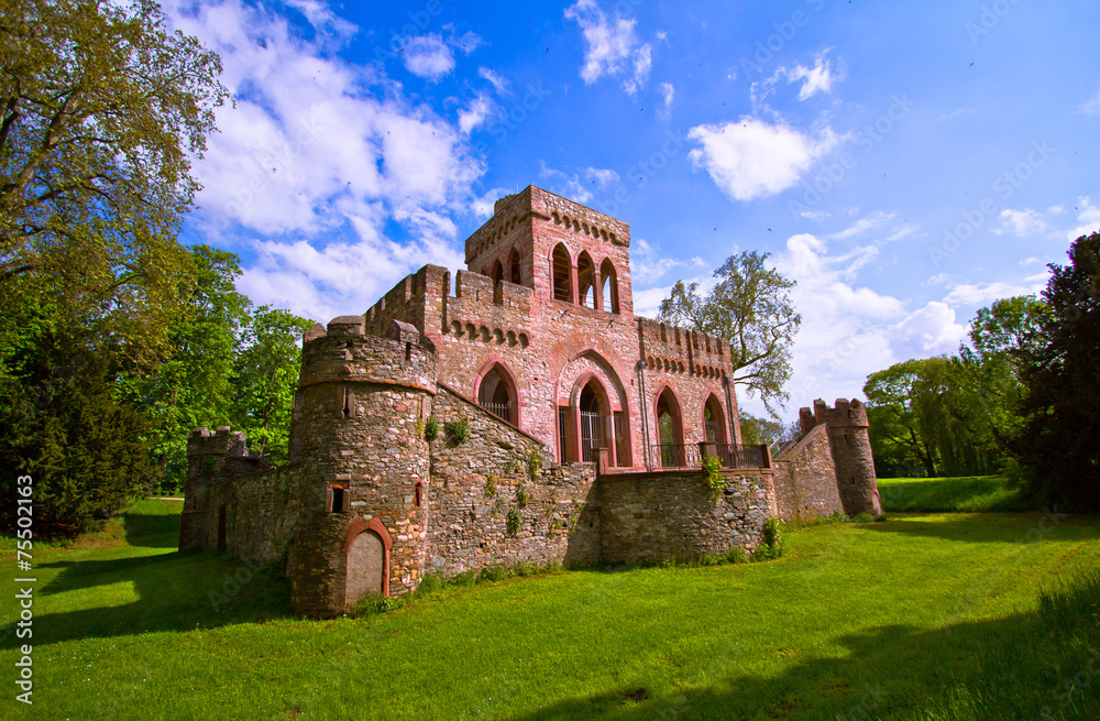
[[[1049,315],[1014,351],[1025,386],[1012,441],[1025,490],[1046,503],[1100,510],[1100,233],[1081,236],[1069,264],[1050,264]]]

